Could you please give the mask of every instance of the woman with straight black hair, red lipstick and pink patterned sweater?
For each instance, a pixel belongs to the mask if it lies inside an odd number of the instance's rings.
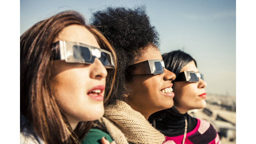
[[[206,107],[207,86],[196,61],[178,50],[162,55],[166,69],[176,74],[172,81],[174,106],[158,111],[149,122],[166,136],[166,144],[221,144],[219,135],[206,120],[192,118],[187,111]]]

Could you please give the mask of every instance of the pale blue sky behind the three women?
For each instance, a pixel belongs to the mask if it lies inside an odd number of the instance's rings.
[[[204,74],[207,93],[236,96],[235,0],[20,0],[20,35],[63,10],[76,10],[90,23],[91,14],[106,6],[141,4],[161,36],[161,54],[184,50]]]

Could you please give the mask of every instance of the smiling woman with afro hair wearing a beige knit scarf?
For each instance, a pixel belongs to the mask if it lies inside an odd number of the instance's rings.
[[[175,74],[164,68],[159,34],[144,6],[108,7],[93,14],[93,25],[117,54],[118,88],[105,103],[104,116],[94,123],[82,143],[100,143],[102,136],[118,144],[162,144],[165,137],[147,120],[173,106]]]

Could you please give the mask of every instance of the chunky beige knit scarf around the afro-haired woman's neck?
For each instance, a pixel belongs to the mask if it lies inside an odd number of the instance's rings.
[[[105,113],[97,123],[98,127],[108,131],[117,144],[162,144],[165,137],[156,130],[138,111],[127,103],[117,101],[105,108]]]

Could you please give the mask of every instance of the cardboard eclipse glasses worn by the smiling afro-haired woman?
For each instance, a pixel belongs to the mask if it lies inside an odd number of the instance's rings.
[[[146,60],[133,65],[130,65],[126,69],[128,75],[136,74],[161,74],[164,73],[164,61],[163,60]]]

